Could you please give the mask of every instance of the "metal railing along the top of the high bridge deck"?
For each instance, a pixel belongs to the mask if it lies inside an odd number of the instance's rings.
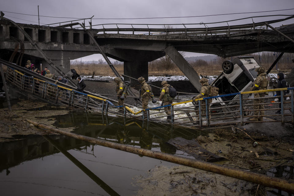
[[[273,16],[288,16],[283,19],[269,20],[264,22],[254,22],[253,18],[259,17],[273,17]],[[285,21],[293,18],[294,15],[267,15],[267,16],[254,16],[240,19],[234,19],[229,21],[209,22],[209,23],[193,23],[193,24],[130,24],[130,23],[112,23],[112,24],[99,24],[89,25],[94,32],[131,32],[132,34],[143,32],[143,35],[208,35],[208,34],[230,34],[244,31],[251,31],[255,28],[266,28],[265,22],[268,24]],[[232,21],[241,21],[245,19],[251,19],[252,23],[243,25],[229,25]],[[220,25],[225,26],[208,27],[208,25]],[[199,28],[202,25],[204,28]],[[172,26],[172,28],[171,28]],[[95,28],[96,27],[96,28]],[[78,28],[78,27],[77,27]]]

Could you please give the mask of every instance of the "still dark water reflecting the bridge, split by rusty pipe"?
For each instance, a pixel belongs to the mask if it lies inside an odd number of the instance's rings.
[[[134,119],[72,112],[55,116],[57,127],[108,141],[189,156],[167,141],[204,132]],[[63,135],[27,136],[0,143],[1,195],[135,195],[134,176],[166,161],[93,145]]]

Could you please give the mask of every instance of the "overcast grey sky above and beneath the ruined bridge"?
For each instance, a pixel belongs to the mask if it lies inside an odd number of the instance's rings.
[[[107,23],[137,23],[137,24],[187,24],[200,22],[218,22],[232,19],[275,15],[275,14],[294,14],[294,0],[0,0],[0,10],[5,13],[5,17],[26,24],[38,24],[37,16],[28,16],[16,13],[25,13],[38,15],[38,8],[41,16],[52,17],[72,17],[72,18],[144,18],[144,17],[185,17],[185,18],[157,18],[157,19],[95,19],[92,25]],[[244,12],[260,12],[280,9],[292,9],[285,11],[264,12],[264,13],[247,13],[209,17],[187,17],[202,16],[212,14],[227,13],[244,13]],[[15,12],[15,13],[8,13]],[[52,18],[40,17],[40,25],[55,22],[70,21],[70,18]],[[254,22],[267,21],[277,18],[285,18],[286,16],[254,18]],[[229,22],[229,25],[251,23],[251,19]],[[294,23],[294,19],[273,24],[274,27],[282,24]],[[88,23],[89,24],[89,23]],[[226,24],[220,24],[224,26]],[[213,27],[215,25],[208,25]],[[203,27],[198,26],[198,27]],[[186,56],[196,56],[199,54],[186,53]],[[83,60],[92,60],[90,57]]]

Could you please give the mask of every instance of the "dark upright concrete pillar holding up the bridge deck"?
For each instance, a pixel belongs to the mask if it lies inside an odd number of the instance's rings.
[[[148,81],[148,62],[147,61],[132,61],[123,62],[123,74],[138,79],[143,76]],[[126,78],[129,81],[129,78]],[[131,79],[131,86],[138,85],[138,80]]]

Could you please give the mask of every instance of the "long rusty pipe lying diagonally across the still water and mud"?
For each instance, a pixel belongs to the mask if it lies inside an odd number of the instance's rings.
[[[87,142],[90,142],[93,144],[102,145],[102,146],[106,146],[109,148],[122,150],[125,152],[134,153],[134,154],[138,154],[138,155],[148,156],[148,157],[152,157],[155,159],[165,160],[165,161],[168,161],[171,163],[181,164],[181,165],[185,165],[188,167],[197,168],[197,169],[229,176],[232,178],[237,178],[237,179],[245,180],[248,182],[261,184],[266,187],[277,188],[277,189],[281,189],[281,190],[285,190],[285,191],[294,193],[294,181],[271,177],[271,176],[267,176],[267,175],[263,175],[263,174],[258,174],[258,173],[254,173],[252,171],[244,171],[241,169],[230,168],[227,166],[208,163],[208,162],[204,162],[204,161],[198,161],[195,159],[185,158],[185,157],[181,157],[181,156],[175,156],[175,155],[171,155],[171,154],[167,154],[167,153],[156,152],[153,150],[141,149],[141,148],[125,145],[125,144],[118,144],[118,143],[114,143],[111,141],[100,140],[97,138],[91,138],[91,137],[87,137],[87,136],[83,136],[83,135],[79,135],[79,134],[70,133],[67,131],[62,131],[62,130],[54,128],[52,126],[47,126],[45,124],[36,123],[31,120],[27,120],[27,121],[35,126],[39,126],[39,127],[43,128],[43,129],[50,130],[55,133],[66,135],[66,136],[69,136],[72,138],[87,141]]]

